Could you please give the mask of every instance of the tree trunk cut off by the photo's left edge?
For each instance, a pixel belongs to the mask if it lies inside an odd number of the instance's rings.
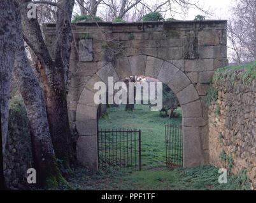
[[[0,1],[0,105],[2,122],[2,142],[5,150],[8,132],[11,74],[16,50],[17,5],[14,1]]]

